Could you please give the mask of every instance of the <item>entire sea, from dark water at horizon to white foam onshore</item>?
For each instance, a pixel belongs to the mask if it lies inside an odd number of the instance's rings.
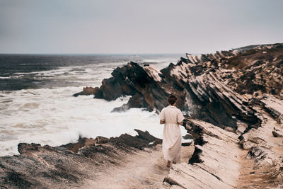
[[[81,137],[136,135],[134,129],[162,138],[155,111],[132,108],[110,113],[129,101],[73,94],[100,86],[127,62],[162,69],[185,55],[0,55],[0,156],[18,154],[21,142],[56,147]],[[186,130],[181,127],[183,135]]]

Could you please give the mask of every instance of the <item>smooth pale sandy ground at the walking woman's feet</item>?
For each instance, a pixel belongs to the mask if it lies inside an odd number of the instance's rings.
[[[83,188],[159,188],[169,172],[161,148],[160,144],[129,155],[126,163],[105,169]],[[193,144],[182,147],[181,162],[188,162],[193,151]]]

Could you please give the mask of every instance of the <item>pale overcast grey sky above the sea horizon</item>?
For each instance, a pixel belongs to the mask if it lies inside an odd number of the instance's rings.
[[[0,0],[0,53],[205,53],[283,42],[282,0]]]

